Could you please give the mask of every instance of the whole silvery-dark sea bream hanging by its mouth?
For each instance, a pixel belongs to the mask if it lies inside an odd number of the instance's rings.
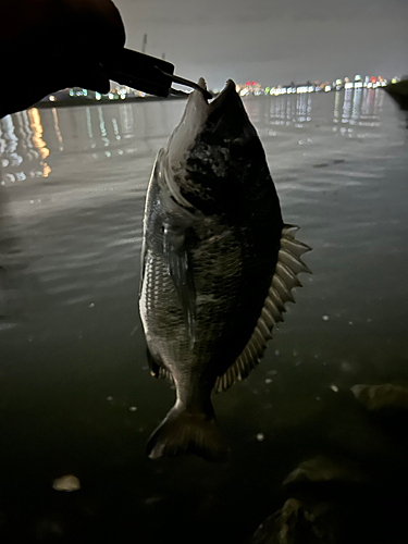
[[[151,458],[223,455],[211,392],[248,375],[294,301],[309,249],[295,231],[234,82],[210,103],[195,90],[159,151],[145,208],[140,316],[152,373],[176,390]]]

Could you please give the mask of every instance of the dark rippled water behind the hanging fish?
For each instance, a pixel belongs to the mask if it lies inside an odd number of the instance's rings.
[[[174,392],[147,370],[141,213],[184,103],[0,122],[1,542],[244,543],[316,455],[357,461],[404,503],[406,443],[350,386],[408,382],[405,120],[381,89],[246,107],[313,275],[260,367],[214,397],[225,465],[145,456]],[[54,491],[64,474],[81,491]]]

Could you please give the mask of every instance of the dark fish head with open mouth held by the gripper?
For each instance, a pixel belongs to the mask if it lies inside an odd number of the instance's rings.
[[[198,83],[206,88],[202,78]],[[262,145],[232,79],[211,101],[199,90],[190,94],[164,157],[173,198],[206,214],[225,210],[234,198],[248,194],[248,186],[270,177]]]

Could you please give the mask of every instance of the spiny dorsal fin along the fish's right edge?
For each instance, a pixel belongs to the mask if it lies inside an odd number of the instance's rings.
[[[239,357],[223,375],[217,379],[214,385],[217,392],[226,391],[235,382],[247,378],[256,368],[263,356],[268,341],[272,338],[273,326],[284,320],[285,304],[295,302],[292,289],[301,287],[297,274],[311,273],[300,259],[301,255],[311,248],[295,238],[298,226],[294,225],[284,225],[282,230],[275,272],[257,325]]]

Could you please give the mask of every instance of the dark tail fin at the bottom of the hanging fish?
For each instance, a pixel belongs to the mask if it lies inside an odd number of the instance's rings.
[[[208,460],[222,460],[226,449],[220,441],[214,413],[188,412],[175,404],[147,443],[150,459],[195,454]]]

